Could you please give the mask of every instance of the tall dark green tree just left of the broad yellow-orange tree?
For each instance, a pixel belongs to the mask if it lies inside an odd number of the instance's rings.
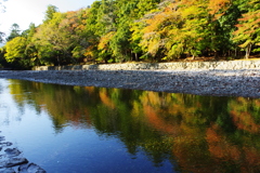
[[[117,30],[112,38],[113,55],[118,61],[130,61],[138,59],[138,53],[140,53],[140,48],[132,41],[133,30],[131,27],[134,21],[140,18],[148,11],[156,8],[158,0],[118,0],[116,3],[116,14],[117,18]]]

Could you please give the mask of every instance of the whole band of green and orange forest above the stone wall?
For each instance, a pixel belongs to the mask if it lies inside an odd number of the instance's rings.
[[[0,67],[259,57],[260,0],[98,0],[11,26]],[[3,40],[3,39],[1,39]]]

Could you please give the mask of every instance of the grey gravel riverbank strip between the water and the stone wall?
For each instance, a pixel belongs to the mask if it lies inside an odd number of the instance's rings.
[[[0,78],[170,93],[260,98],[260,70],[0,70]]]

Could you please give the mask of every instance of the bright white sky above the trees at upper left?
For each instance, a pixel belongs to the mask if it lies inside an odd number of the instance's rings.
[[[10,32],[16,23],[22,30],[28,29],[30,23],[42,24],[49,4],[60,12],[76,11],[91,5],[95,0],[8,0],[3,2],[5,12],[0,13],[0,31]],[[2,0],[1,0],[2,2]]]

